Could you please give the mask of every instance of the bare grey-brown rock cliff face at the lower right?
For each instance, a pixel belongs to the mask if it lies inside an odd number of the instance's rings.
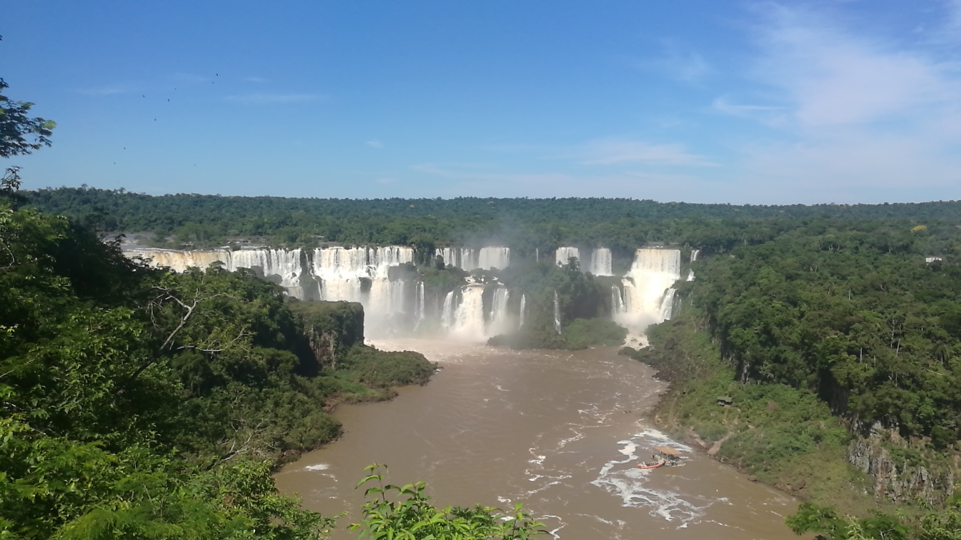
[[[848,445],[848,461],[868,475],[875,488],[875,497],[899,503],[920,497],[930,504],[941,504],[954,492],[954,467],[929,471],[923,465],[912,465],[894,456],[881,444],[885,430],[872,430],[867,438],[856,438]],[[906,446],[894,435],[892,442]]]

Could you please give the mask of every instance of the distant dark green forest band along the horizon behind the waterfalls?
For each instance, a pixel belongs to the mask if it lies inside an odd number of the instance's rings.
[[[279,246],[401,244],[426,253],[455,242],[503,244],[519,257],[561,244],[604,245],[627,257],[651,242],[730,248],[770,240],[794,229],[799,219],[924,222],[931,227],[961,214],[961,202],[733,206],[631,199],[337,200],[150,196],[86,187],[22,195],[33,208],[73,216],[103,231],[155,233],[165,247],[222,246],[236,237],[262,237]]]

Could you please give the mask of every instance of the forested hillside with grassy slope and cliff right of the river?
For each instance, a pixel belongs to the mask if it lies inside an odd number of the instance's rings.
[[[680,314],[627,351],[674,383],[661,423],[809,501],[798,531],[961,531],[961,219],[912,223],[800,219],[705,246]]]

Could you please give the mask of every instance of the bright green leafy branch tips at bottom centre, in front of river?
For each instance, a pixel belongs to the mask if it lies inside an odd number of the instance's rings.
[[[424,493],[424,482],[397,486],[383,483],[382,465],[366,468],[371,474],[357,488],[371,482],[364,496],[363,520],[351,526],[359,538],[404,540],[529,540],[550,533],[524,512],[521,503],[505,514],[497,508],[475,506],[436,508]],[[386,467],[383,466],[384,471]],[[388,499],[389,497],[389,499]]]

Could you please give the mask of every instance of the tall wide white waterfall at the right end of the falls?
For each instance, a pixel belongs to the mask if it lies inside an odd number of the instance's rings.
[[[617,317],[628,328],[643,330],[671,318],[674,283],[680,279],[680,251],[639,249],[624,283],[624,312]]]

